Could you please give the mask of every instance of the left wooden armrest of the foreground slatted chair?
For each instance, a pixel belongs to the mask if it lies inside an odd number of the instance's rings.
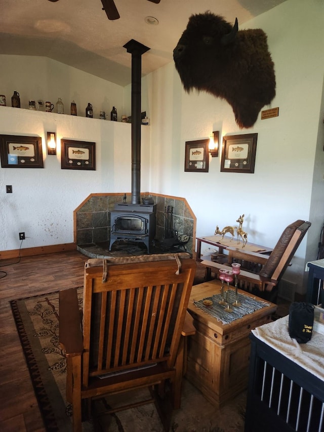
[[[83,352],[83,335],[76,289],[59,292],[59,342],[66,357]]]

